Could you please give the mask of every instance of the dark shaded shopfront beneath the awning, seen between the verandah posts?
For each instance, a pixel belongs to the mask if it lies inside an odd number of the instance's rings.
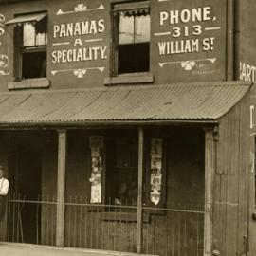
[[[64,246],[136,251],[137,128],[72,129],[66,137]],[[91,137],[103,141],[101,202],[97,203],[92,202]],[[156,204],[151,194],[152,139],[160,140],[162,147]],[[56,245],[57,130],[3,131],[1,140],[5,148],[1,161],[8,167],[10,181],[6,239]],[[201,255],[203,128],[144,128],[143,161],[142,251],[168,255],[190,250]]]

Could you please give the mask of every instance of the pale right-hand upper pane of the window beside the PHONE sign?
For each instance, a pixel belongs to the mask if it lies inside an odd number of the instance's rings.
[[[135,20],[136,34],[135,42],[150,41],[150,15],[136,16]]]

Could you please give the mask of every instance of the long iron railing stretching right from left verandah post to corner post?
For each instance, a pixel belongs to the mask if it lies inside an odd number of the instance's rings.
[[[65,246],[136,252],[137,207],[86,204],[70,196],[65,207]],[[204,210],[201,207],[143,207],[142,252],[164,256],[201,256]]]

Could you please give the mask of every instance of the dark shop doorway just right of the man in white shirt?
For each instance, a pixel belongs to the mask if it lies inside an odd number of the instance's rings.
[[[29,143],[29,139],[27,142],[17,143],[9,155],[8,240],[38,244],[41,239],[38,201],[42,189],[42,150]]]

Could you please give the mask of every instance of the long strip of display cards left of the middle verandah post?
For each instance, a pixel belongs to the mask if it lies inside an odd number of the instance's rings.
[[[103,137],[90,137],[91,148],[91,203],[101,203]]]

